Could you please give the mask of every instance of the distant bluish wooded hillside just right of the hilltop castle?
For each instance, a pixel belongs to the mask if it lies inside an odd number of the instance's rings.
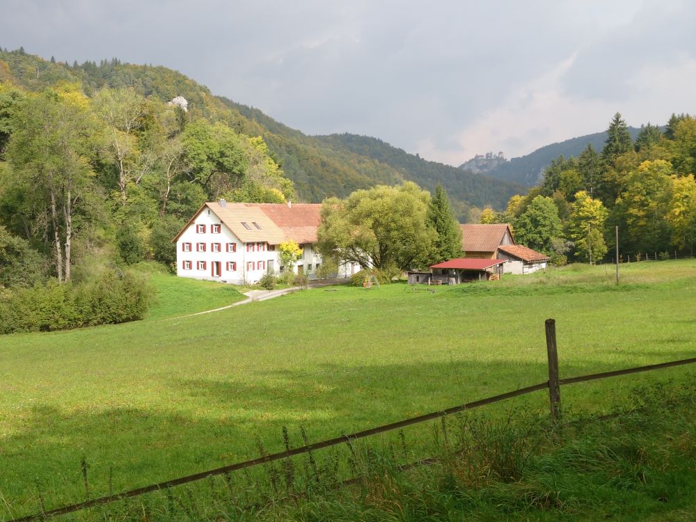
[[[635,139],[640,129],[628,127],[628,132]],[[551,145],[545,145],[534,152],[530,152],[528,155],[505,161],[505,163],[487,171],[486,175],[498,180],[519,183],[523,187],[533,187],[541,181],[544,169],[551,164],[553,159],[559,156],[578,157],[587,145],[592,145],[594,150],[601,150],[606,139],[606,132],[596,132],[595,134],[587,134],[586,136],[578,136],[577,138],[561,141],[560,143],[551,143]]]

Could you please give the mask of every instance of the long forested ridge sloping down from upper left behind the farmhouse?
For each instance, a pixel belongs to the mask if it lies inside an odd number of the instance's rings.
[[[297,196],[313,203],[327,196],[345,197],[356,189],[375,184],[411,180],[432,191],[441,182],[457,214],[466,221],[472,207],[502,208],[505,201],[520,190],[516,184],[425,161],[377,139],[349,135],[340,139],[337,136],[306,136],[258,109],[214,96],[205,86],[164,67],[121,63],[116,58],[99,64],[68,65],[44,61],[20,50],[0,52],[0,81],[3,74],[29,90],[47,88],[58,81],[78,81],[89,97],[104,87],[132,88],[140,95],[161,102],[182,96],[189,102],[191,118],[221,121],[237,132],[262,136],[271,156],[294,183]],[[357,142],[361,142],[360,146],[356,146]]]

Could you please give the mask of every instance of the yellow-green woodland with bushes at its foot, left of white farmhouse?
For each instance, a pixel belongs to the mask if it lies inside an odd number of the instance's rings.
[[[14,67],[0,61],[1,332],[138,319],[148,287],[128,267],[171,266],[171,239],[203,202],[296,198],[263,139],[199,109],[195,96],[190,104],[157,97],[147,76],[140,88],[118,75],[95,86],[82,74],[90,64],[68,75],[35,58],[44,70],[31,70],[22,49],[8,54]],[[15,70],[31,74],[18,81]]]

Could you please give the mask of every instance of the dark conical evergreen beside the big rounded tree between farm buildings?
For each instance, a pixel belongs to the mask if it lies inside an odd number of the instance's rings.
[[[432,251],[429,254],[429,264],[447,261],[461,255],[461,227],[452,215],[450,200],[440,183],[435,187],[435,195],[428,203],[425,221],[427,226],[436,232]]]

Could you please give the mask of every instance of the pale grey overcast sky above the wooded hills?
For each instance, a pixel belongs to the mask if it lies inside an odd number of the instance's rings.
[[[459,165],[696,112],[696,2],[0,0],[0,46],[180,70],[306,134]]]

